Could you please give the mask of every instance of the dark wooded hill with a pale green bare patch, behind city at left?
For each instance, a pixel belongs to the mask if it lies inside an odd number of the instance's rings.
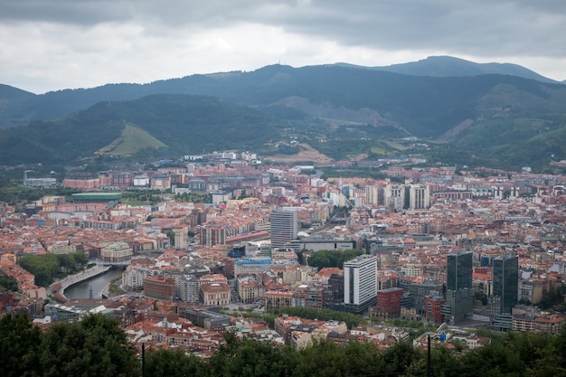
[[[0,161],[67,163],[93,156],[180,156],[245,144],[259,150],[282,122],[204,96],[104,101],[69,117],[0,132]],[[198,152],[197,152],[198,151]]]

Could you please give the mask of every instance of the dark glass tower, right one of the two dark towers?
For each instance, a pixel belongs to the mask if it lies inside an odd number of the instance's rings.
[[[494,297],[498,297],[495,299],[494,314],[511,314],[518,300],[519,258],[501,255],[493,260],[493,266]]]

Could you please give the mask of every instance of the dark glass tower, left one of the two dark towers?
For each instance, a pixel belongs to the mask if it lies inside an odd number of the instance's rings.
[[[458,250],[448,254],[446,309],[443,314],[450,325],[458,325],[474,310],[473,269],[471,251]]]

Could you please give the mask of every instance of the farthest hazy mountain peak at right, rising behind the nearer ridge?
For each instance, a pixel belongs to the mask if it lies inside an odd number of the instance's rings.
[[[464,59],[458,59],[451,56],[429,56],[428,58],[420,61],[411,61],[382,67],[354,67],[401,73],[411,76],[465,77],[500,74],[547,83],[559,83],[558,81],[546,78],[517,64],[497,62],[476,63],[474,61],[466,61]]]

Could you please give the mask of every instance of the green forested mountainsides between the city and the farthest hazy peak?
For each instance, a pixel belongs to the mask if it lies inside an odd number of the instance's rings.
[[[566,146],[557,143],[566,124],[566,86],[508,74],[433,77],[271,65],[26,96],[13,114],[43,120],[0,132],[2,161],[178,156],[242,146],[291,154],[297,143],[335,159],[420,155],[540,168],[566,159]],[[140,131],[132,134],[127,125]],[[132,135],[144,141],[133,142]],[[392,141],[407,137],[421,141]]]

